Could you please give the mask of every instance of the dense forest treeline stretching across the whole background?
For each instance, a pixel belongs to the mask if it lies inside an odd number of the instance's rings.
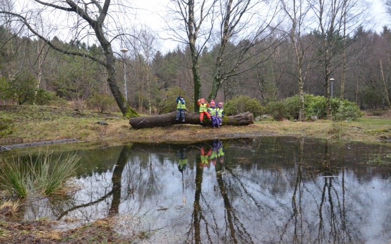
[[[197,56],[201,97],[228,102],[242,95],[266,106],[298,95],[300,80],[304,94],[346,99],[361,109],[390,107],[391,30],[384,27],[375,33],[363,26],[349,34],[341,30],[329,30],[326,36],[320,30],[292,36],[274,28],[258,41],[227,41],[222,56],[221,43],[205,45]],[[185,97],[188,108],[194,109],[192,46],[177,45],[162,53],[159,46],[150,44],[156,37],[147,34],[140,32],[138,38],[125,42],[124,52],[114,51],[120,91],[139,113],[167,112],[167,103],[177,95]],[[0,102],[44,104],[50,100],[56,105],[71,102],[78,109],[118,110],[107,69],[88,58],[105,60],[102,46],[58,37],[50,42],[67,53],[86,57],[66,55],[47,41],[0,26]],[[244,48],[245,52],[237,52]],[[218,81],[219,89],[213,94],[217,60],[224,58],[218,72],[226,72],[226,76]]]

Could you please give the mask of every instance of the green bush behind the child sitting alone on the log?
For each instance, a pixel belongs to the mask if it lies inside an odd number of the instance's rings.
[[[157,106],[157,112],[159,114],[167,114],[174,112],[176,110],[176,98],[179,96],[179,94],[185,94],[185,91],[180,90],[179,87],[173,87],[169,88],[166,91],[166,94],[164,95],[164,99],[162,102],[159,103]],[[185,98],[186,101],[186,108],[190,111],[194,111],[194,103],[191,98],[186,98],[184,95],[182,95]]]

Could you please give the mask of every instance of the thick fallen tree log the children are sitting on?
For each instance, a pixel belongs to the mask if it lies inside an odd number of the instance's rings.
[[[199,113],[189,113],[185,112],[185,122],[181,122],[179,120],[175,121],[176,111],[154,115],[154,116],[145,116],[145,117],[136,117],[131,118],[129,123],[134,129],[141,128],[152,128],[152,127],[162,127],[173,124],[200,124],[199,122]],[[249,125],[253,123],[253,114],[250,112],[241,113],[233,116],[224,116],[222,124],[224,125]],[[210,122],[206,116],[204,116],[204,121],[202,123],[203,126],[211,126],[212,122]]]

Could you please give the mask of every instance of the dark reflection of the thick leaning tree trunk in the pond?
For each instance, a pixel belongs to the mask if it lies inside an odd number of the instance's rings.
[[[123,146],[122,151],[119,154],[117,164],[113,170],[113,175],[111,177],[113,197],[109,209],[109,215],[118,214],[119,204],[121,203],[122,171],[124,171],[125,164],[128,162],[130,149],[131,145]]]

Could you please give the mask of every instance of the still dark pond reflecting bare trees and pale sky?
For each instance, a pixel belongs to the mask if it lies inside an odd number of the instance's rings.
[[[385,145],[257,137],[76,153],[80,190],[31,201],[25,220],[66,229],[115,216],[118,233],[152,243],[391,242]]]

